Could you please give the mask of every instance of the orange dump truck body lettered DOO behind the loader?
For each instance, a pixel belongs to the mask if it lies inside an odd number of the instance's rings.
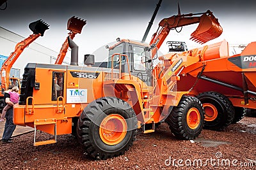
[[[200,57],[180,73],[178,90],[189,90],[193,96],[202,92],[219,92],[227,96],[237,107],[256,108],[256,42],[250,43],[243,52],[229,56],[227,41],[196,48],[175,55]],[[171,60],[175,60],[172,59]]]

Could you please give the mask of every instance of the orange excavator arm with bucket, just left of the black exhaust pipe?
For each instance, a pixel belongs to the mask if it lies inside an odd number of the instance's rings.
[[[69,30],[70,32],[68,33],[68,36],[73,39],[77,33],[81,33],[83,26],[86,24],[86,20],[82,20],[81,18],[77,18],[77,17],[71,17],[68,20],[68,24],[67,24],[67,30]],[[66,53],[68,50],[68,37],[65,39],[63,45],[61,46],[60,49],[60,53],[56,59],[55,64],[62,64]]]

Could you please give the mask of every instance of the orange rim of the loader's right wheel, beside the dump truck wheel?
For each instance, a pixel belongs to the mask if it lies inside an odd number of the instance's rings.
[[[200,112],[196,108],[191,108],[187,114],[187,124],[190,129],[196,129],[200,124]]]

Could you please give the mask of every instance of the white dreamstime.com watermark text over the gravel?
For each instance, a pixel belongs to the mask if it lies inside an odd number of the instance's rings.
[[[225,159],[221,152],[217,152],[215,157],[210,159],[169,159],[164,160],[166,166],[175,167],[253,167],[253,162],[239,162],[237,159]]]

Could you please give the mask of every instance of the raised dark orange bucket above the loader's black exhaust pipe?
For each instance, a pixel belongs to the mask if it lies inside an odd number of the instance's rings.
[[[69,31],[80,34],[85,24],[86,24],[86,20],[82,20],[81,18],[77,18],[74,16],[69,18],[67,29]]]

